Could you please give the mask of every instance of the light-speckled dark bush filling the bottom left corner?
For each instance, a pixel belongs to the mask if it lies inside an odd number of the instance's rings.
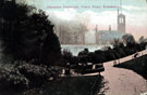
[[[22,91],[28,87],[28,79],[24,74],[20,73],[14,65],[1,65],[0,66],[0,91]]]

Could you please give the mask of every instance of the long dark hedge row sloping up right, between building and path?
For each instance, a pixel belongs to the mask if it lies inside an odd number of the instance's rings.
[[[111,48],[106,48],[103,51],[97,50],[94,52],[79,52],[78,53],[78,58],[79,63],[93,63],[93,64],[99,64],[99,63],[105,63],[109,60],[114,60],[119,59],[125,56],[128,56],[131,54],[134,54],[136,52],[143,51],[146,49],[147,43],[135,43],[135,42],[130,42],[132,39],[127,39],[128,42],[124,46],[122,42],[115,42],[113,49]]]

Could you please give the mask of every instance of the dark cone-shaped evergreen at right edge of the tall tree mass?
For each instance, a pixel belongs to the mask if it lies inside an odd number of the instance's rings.
[[[42,57],[44,63],[48,65],[56,63],[57,59],[61,58],[61,48],[58,37],[52,33],[47,36],[45,43],[42,45]],[[58,64],[57,64],[58,65]]]

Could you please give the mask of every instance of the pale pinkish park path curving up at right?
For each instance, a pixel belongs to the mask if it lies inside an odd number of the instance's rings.
[[[142,54],[142,53],[140,53]],[[147,52],[143,52],[147,54]],[[132,59],[132,56],[120,59],[120,63]],[[140,95],[147,93],[147,80],[132,70],[115,68],[113,62],[103,64],[105,71],[101,74],[105,77],[106,95]]]

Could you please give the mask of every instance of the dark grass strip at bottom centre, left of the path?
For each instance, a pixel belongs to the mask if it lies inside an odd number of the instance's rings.
[[[102,84],[102,77],[68,77],[48,82],[40,89],[30,90],[26,95],[97,95]]]

